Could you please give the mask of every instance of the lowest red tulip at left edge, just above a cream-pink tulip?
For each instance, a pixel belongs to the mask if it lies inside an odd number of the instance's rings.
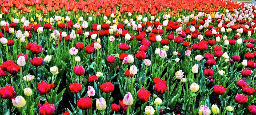
[[[13,86],[7,86],[0,88],[0,95],[3,99],[11,99],[15,96],[16,92],[14,91]]]

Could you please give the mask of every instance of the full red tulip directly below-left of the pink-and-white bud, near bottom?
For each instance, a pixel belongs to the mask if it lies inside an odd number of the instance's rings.
[[[78,108],[82,110],[90,109],[92,105],[92,99],[90,97],[83,97],[80,100],[77,100]]]

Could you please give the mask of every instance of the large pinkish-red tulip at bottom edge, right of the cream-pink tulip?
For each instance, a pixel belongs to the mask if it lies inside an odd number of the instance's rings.
[[[53,104],[46,102],[39,108],[40,115],[52,115],[54,113],[55,107]]]

